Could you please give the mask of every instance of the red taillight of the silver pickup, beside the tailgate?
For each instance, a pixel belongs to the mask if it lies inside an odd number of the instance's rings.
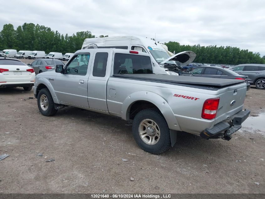
[[[218,110],[220,98],[205,100],[202,108],[203,119],[214,119]]]

